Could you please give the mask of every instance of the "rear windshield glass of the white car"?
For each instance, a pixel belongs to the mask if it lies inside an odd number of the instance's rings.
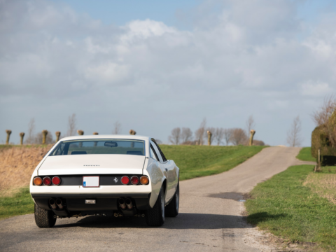
[[[87,139],[62,141],[50,154],[86,155],[86,154],[122,154],[145,155],[144,141],[129,139]]]

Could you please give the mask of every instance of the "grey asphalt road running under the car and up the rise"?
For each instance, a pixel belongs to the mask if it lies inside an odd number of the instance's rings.
[[[299,151],[265,148],[229,172],[181,181],[180,214],[160,228],[148,228],[141,217],[88,216],[41,229],[28,214],[0,221],[0,251],[267,251],[251,241],[239,200],[257,183],[303,164],[295,159]]]

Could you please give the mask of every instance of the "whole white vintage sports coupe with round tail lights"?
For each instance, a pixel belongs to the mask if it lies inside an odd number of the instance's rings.
[[[179,214],[179,167],[150,137],[66,137],[34,170],[30,193],[39,228],[87,215],[143,216],[160,226]]]

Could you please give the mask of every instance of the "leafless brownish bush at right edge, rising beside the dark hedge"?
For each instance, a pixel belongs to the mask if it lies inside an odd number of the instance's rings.
[[[323,105],[313,114],[314,122],[321,126],[324,134],[328,136],[330,146],[336,148],[336,99],[334,96],[325,97]],[[332,118],[333,117],[333,118]]]

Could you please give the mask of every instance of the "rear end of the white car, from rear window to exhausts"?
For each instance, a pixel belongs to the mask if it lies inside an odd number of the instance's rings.
[[[59,218],[141,215],[151,197],[145,149],[139,139],[62,141],[34,171],[31,196]]]

